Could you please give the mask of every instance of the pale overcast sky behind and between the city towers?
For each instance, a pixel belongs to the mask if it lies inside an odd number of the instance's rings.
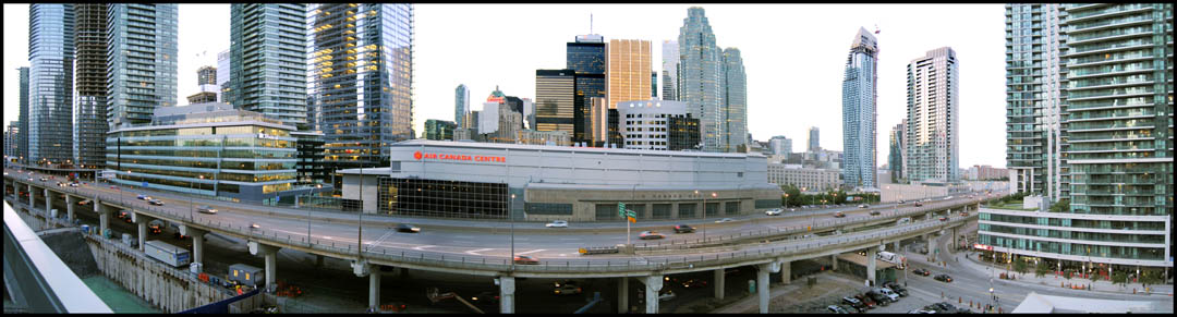
[[[747,73],[749,132],[793,139],[805,150],[810,126],[824,148],[842,150],[842,79],[859,27],[882,29],[877,163],[887,133],[906,115],[906,65],[949,46],[960,70],[960,167],[1005,166],[1004,8],[986,5],[415,5],[413,125],[453,120],[454,87],[472,107],[498,85],[536,95],[537,68],[564,68],[565,42],[592,32],[653,45],[661,84],[661,41],[678,39],[686,9],[701,6],[720,47],[738,47]],[[179,103],[198,91],[197,68],[228,48],[228,5],[180,5]],[[28,5],[4,6],[5,125],[19,114],[16,67],[28,66]],[[201,53],[204,53],[201,55]],[[661,91],[659,90],[659,94]]]

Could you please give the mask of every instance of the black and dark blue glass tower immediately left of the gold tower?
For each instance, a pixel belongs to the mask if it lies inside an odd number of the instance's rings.
[[[592,139],[592,99],[605,97],[605,38],[599,34],[577,35],[566,46],[565,68],[576,72],[572,141]]]

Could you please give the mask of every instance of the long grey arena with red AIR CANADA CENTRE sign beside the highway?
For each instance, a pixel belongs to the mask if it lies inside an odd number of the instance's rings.
[[[638,220],[780,206],[759,153],[417,139],[390,157],[387,167],[344,170],[344,199],[367,213],[536,222],[619,222],[618,203]]]

